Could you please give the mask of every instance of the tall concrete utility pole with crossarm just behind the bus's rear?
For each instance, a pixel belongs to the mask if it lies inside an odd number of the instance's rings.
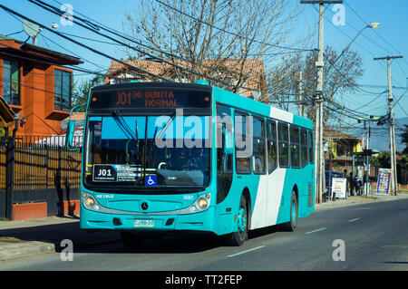
[[[323,25],[324,25],[324,5],[325,4],[343,4],[343,1],[300,1],[301,4],[319,5],[319,38],[317,54],[317,87],[315,94],[315,176],[316,176],[316,196],[317,203],[322,203],[323,192],[325,190],[325,156],[323,151]]]

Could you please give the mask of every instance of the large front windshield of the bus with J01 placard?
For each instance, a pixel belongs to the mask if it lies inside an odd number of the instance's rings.
[[[92,116],[85,184],[126,188],[206,187],[209,116]]]

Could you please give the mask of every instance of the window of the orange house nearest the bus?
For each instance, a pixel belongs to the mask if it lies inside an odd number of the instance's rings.
[[[54,72],[53,109],[69,111],[71,107],[71,72],[56,69]]]

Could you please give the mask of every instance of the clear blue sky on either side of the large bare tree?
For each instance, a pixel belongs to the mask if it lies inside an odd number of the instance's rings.
[[[135,7],[139,0],[43,0],[45,3],[61,7],[62,4],[69,4],[73,7],[73,14],[81,16],[84,14],[92,19],[105,24],[120,32],[123,31],[125,14]],[[111,42],[105,38],[92,34],[79,25],[64,24],[59,16],[44,11],[42,8],[28,2],[27,0],[0,0],[0,4],[5,5],[20,14],[24,14],[35,21],[51,27],[51,24],[59,24],[58,32],[75,34],[88,38],[96,38]],[[301,14],[298,23],[294,28],[291,38],[301,39],[310,30],[317,29],[318,5],[300,4],[300,0],[287,0],[287,5],[300,5]],[[367,28],[350,44],[350,49],[361,54],[363,59],[364,76],[357,82],[362,90],[358,90],[350,95],[344,95],[339,101],[346,108],[362,117],[368,114],[382,116],[387,113],[387,93],[380,93],[387,89],[387,69],[386,61],[374,61],[374,57],[403,55],[403,59],[392,61],[391,70],[393,77],[393,97],[398,101],[394,105],[394,116],[397,119],[395,133],[397,142],[400,142],[399,134],[403,127],[403,118],[408,118],[408,92],[406,92],[408,77],[408,1],[406,0],[345,0],[343,5],[325,5],[325,32],[324,43],[331,45],[337,52],[341,52],[352,42],[355,36],[368,23],[377,22],[380,25],[375,28]],[[22,23],[15,17],[0,9],[0,34],[10,35],[16,39],[25,41],[27,35],[22,32]],[[123,48],[120,45],[110,43],[94,43],[92,41],[75,38],[83,43],[91,45],[93,48],[103,53],[112,55],[115,58],[126,58]],[[31,42],[31,40],[28,40]],[[290,43],[288,40],[287,43]],[[285,43],[285,44],[287,44]],[[63,40],[61,37],[43,31],[38,37],[37,44],[61,53],[71,54],[81,57],[85,62],[83,68],[92,71],[106,73],[111,64],[111,60],[103,56],[92,53],[74,43]],[[316,44],[313,48],[317,47]],[[89,79],[91,76],[83,72],[73,72],[77,80]],[[406,94],[403,94],[406,92]],[[401,120],[401,121],[400,121]],[[408,124],[408,119],[407,123]],[[356,120],[344,119],[345,132],[356,136],[361,136],[363,124],[356,123]],[[360,128],[356,130],[356,128]],[[372,122],[372,139],[384,140],[388,136],[386,126],[377,126]],[[347,130],[349,129],[349,130]],[[378,148],[387,149],[386,141],[377,141]],[[381,148],[380,148],[381,147]],[[397,150],[402,150],[404,146],[398,145]]]

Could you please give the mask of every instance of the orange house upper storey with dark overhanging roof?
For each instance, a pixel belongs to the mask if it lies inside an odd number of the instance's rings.
[[[0,35],[0,95],[20,119],[17,136],[61,133],[79,58]]]

